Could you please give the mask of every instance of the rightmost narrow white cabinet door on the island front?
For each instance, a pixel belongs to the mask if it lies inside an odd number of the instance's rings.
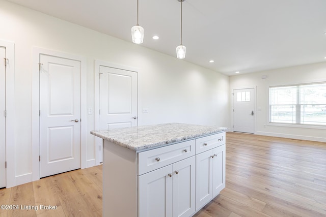
[[[225,145],[213,149],[213,197],[225,188]]]

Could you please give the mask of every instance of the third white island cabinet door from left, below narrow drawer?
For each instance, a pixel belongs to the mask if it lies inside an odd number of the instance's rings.
[[[196,211],[213,198],[212,156],[212,149],[196,156]]]

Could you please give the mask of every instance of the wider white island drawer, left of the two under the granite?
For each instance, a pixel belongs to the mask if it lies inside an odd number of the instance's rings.
[[[138,153],[138,175],[195,155],[195,140]]]

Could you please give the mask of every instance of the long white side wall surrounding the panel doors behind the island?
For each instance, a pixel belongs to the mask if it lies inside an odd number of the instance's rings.
[[[185,122],[230,126],[228,76],[3,0],[0,20],[0,38],[15,43],[16,177],[32,172],[33,46],[87,58],[87,107],[95,107],[94,60],[99,59],[140,69],[139,125]],[[141,113],[142,108],[149,113]],[[87,121],[88,131],[94,130],[94,114],[88,115]],[[89,134],[87,160],[95,158],[94,143]]]

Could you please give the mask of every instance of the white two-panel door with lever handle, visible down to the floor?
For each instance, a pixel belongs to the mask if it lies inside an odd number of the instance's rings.
[[[40,177],[80,168],[77,60],[40,55]]]

